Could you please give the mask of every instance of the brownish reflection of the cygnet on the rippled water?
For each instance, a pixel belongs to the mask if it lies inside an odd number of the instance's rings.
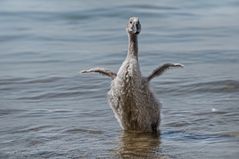
[[[160,135],[151,133],[122,132],[117,153],[120,158],[160,157]]]

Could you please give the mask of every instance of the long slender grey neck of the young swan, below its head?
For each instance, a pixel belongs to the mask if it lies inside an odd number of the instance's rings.
[[[138,39],[135,34],[129,34],[128,56],[133,56],[138,60]]]

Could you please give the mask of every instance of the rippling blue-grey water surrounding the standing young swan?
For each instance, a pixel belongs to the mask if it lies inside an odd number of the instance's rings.
[[[239,157],[236,0],[0,1],[0,158]],[[139,16],[144,75],[163,104],[160,135],[121,131],[106,101]]]

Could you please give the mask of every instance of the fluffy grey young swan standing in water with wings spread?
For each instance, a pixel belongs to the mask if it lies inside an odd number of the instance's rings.
[[[139,18],[129,18],[126,30],[129,37],[128,54],[117,74],[103,68],[84,70],[82,73],[98,72],[111,77],[108,101],[122,129],[157,132],[160,103],[149,89],[149,82],[168,68],[183,65],[167,63],[155,69],[148,77],[142,77],[138,62],[137,36],[141,31]]]

